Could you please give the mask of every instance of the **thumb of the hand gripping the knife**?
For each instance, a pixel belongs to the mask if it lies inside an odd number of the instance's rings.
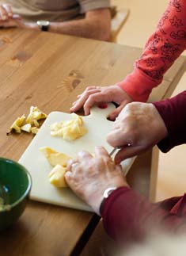
[[[115,163],[120,164],[125,159],[129,159],[135,155],[139,155],[142,152],[142,147],[140,146],[126,146],[122,147],[120,151],[115,155]]]

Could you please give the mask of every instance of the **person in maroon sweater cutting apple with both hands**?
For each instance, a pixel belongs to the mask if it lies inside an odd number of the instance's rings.
[[[122,145],[122,157],[114,162],[104,147],[96,147],[94,155],[81,151],[68,162],[66,182],[118,243],[139,242],[157,230],[186,231],[186,195],[152,204],[129,187],[119,164],[155,144],[167,152],[186,143],[185,117],[186,91],[164,101],[129,103],[107,136],[113,147]]]

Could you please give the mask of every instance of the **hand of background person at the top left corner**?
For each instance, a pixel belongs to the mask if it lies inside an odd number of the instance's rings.
[[[0,5],[0,27],[17,27],[17,21],[19,20],[21,20],[21,16],[14,14],[9,4]]]

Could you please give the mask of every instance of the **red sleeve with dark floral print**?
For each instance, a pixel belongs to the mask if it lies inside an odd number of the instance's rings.
[[[118,85],[134,101],[145,102],[165,71],[186,48],[186,0],[170,0],[134,71]]]

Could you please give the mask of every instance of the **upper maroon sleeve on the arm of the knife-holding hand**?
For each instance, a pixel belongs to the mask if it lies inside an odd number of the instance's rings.
[[[177,145],[186,143],[186,91],[176,97],[153,104],[168,130],[168,137],[158,143],[160,150],[167,152]]]

